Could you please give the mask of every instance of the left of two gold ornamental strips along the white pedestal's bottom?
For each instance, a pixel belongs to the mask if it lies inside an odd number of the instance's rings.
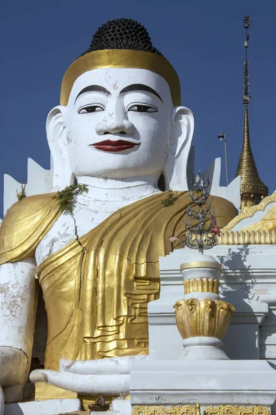
[[[137,405],[132,409],[132,415],[200,415],[200,405],[178,405],[166,407],[163,405]]]

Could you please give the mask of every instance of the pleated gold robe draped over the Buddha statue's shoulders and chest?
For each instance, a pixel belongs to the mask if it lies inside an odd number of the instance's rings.
[[[52,194],[15,203],[0,229],[0,264],[33,257],[60,215]],[[169,237],[183,234],[188,192],[149,196],[112,214],[37,268],[48,316],[46,369],[60,358],[98,359],[148,353],[148,302],[159,297],[159,257],[172,248]],[[212,196],[223,228],[237,211]]]

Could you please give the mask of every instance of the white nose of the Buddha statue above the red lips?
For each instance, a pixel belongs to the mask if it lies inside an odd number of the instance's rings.
[[[127,118],[125,110],[115,109],[110,111],[106,117],[96,127],[96,132],[99,136],[103,134],[128,134],[132,135],[135,132],[135,127]]]

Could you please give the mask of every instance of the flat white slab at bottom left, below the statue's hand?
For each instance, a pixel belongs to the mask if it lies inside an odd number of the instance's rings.
[[[79,411],[79,399],[35,400],[33,402],[8,403],[3,415],[59,415]]]

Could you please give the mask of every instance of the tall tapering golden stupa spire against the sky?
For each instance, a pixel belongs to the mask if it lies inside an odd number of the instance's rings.
[[[244,28],[246,29],[246,41],[244,47],[246,50],[246,58],[244,59],[244,143],[242,146],[242,154],[239,157],[236,176],[241,176],[241,199],[242,212],[245,212],[252,205],[257,205],[264,197],[268,195],[268,187],[264,185],[259,178],[253,152],[250,146],[249,124],[248,124],[248,103],[249,82],[248,82],[248,28],[250,19],[248,15],[244,17]]]

